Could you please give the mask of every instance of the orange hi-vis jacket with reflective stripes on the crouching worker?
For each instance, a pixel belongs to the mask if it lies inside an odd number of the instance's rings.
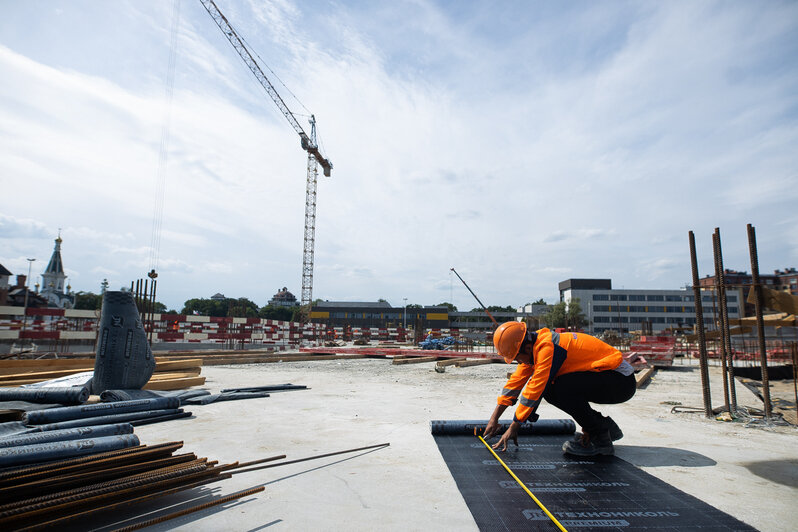
[[[498,398],[500,405],[518,401],[513,421],[537,419],[537,410],[549,383],[559,375],[577,371],[606,371],[623,362],[621,352],[598,338],[583,333],[556,333],[543,328],[530,336],[535,339],[532,365],[518,364]]]

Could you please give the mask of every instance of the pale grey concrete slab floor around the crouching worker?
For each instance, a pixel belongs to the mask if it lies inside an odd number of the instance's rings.
[[[207,489],[266,489],[151,530],[476,530],[429,421],[487,419],[509,369],[450,366],[436,373],[434,363],[392,366],[382,359],[205,367],[211,391],[282,383],[310,389],[192,406],[195,418],[136,428],[142,443],[182,440],[183,451],[220,463],[390,447],[235,475]],[[720,372],[711,370],[719,406]],[[762,408],[745,387],[737,395],[739,405]],[[703,407],[696,367],[660,370],[628,403],[601,407],[625,433],[616,455],[759,530],[795,530],[798,429],[674,414],[672,403]],[[539,413],[564,417],[545,402]]]

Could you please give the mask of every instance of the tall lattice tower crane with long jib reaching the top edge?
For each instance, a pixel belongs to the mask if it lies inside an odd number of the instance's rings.
[[[283,99],[275,90],[266,74],[263,73],[255,58],[250,53],[249,49],[244,44],[244,41],[238,36],[236,31],[227,21],[227,18],[219,10],[218,6],[213,0],[199,0],[200,3],[208,11],[213,21],[219,26],[227,40],[233,45],[233,48],[241,59],[244,60],[247,67],[255,75],[258,82],[266,89],[266,92],[271,96],[274,103],[283,113],[283,116],[294,128],[294,131],[299,135],[299,140],[302,144],[302,149],[308,152],[307,164],[307,185],[305,188],[305,238],[302,251],[302,296],[301,305],[303,309],[309,310],[312,303],[313,295],[313,249],[315,247],[316,235],[316,182],[318,178],[318,166],[321,165],[324,175],[329,177],[332,171],[332,162],[324,157],[319,151],[319,146],[316,143],[316,118],[310,115],[310,135],[305,133],[302,126],[297,121],[294,114],[288,109]],[[303,313],[304,315],[304,313]]]

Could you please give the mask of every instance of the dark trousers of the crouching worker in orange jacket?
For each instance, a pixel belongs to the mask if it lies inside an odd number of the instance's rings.
[[[550,404],[569,414],[587,433],[606,429],[603,416],[590,407],[628,401],[637,390],[634,374],[624,376],[617,371],[578,371],[566,373],[550,383],[543,397]]]

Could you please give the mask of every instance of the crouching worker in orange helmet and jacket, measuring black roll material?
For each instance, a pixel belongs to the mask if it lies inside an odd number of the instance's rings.
[[[589,334],[552,332],[543,328],[527,331],[525,323],[502,323],[493,333],[496,351],[518,368],[504,385],[496,409],[485,427],[490,438],[499,430],[499,417],[518,401],[513,422],[493,445],[507,450],[511,439],[518,445],[518,429],[526,421],[537,421],[540,401],[563,410],[582,427],[563,452],[577,456],[611,455],[612,442],[623,432],[609,417],[590,403],[617,404],[631,399],[637,389],[634,369],[621,352]]]

